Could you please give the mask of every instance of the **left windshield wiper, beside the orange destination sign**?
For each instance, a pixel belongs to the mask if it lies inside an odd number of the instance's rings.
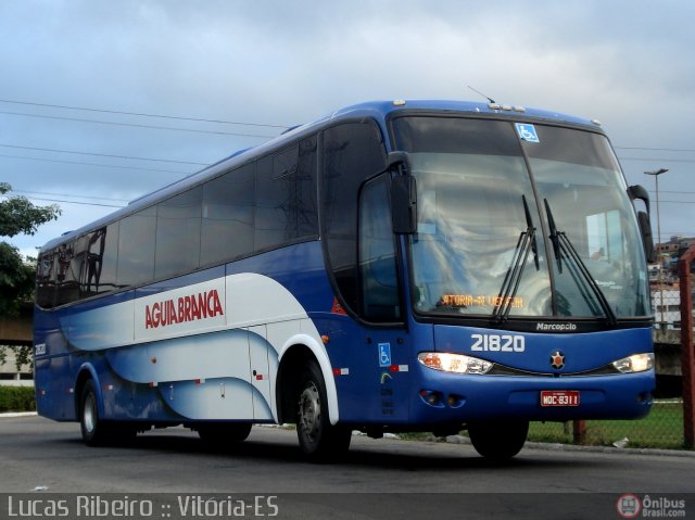
[[[500,294],[497,294],[497,300],[495,301],[495,306],[492,309],[492,319],[495,324],[502,324],[509,317],[509,313],[511,312],[511,306],[514,304],[514,297],[519,289],[521,275],[523,275],[526,262],[529,258],[529,253],[531,251],[533,252],[535,270],[540,270],[535,227],[533,226],[529,204],[526,202],[526,195],[521,195],[521,201],[523,202],[527,227],[525,231],[519,233],[519,240],[517,241],[517,245],[514,250],[511,264],[507,269],[507,274],[502,282],[502,288],[500,289]]]

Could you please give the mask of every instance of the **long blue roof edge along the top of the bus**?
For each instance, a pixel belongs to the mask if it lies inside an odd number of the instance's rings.
[[[137,213],[148,206],[155,204],[156,202],[167,199],[176,193],[187,191],[188,189],[204,182],[211,178],[224,174],[230,169],[239,167],[247,162],[257,158],[270,151],[281,149],[285,143],[290,143],[303,135],[311,135],[321,127],[330,125],[331,123],[340,119],[355,118],[355,117],[370,117],[375,118],[382,125],[389,114],[395,112],[432,112],[432,113],[451,113],[451,114],[481,114],[481,115],[502,115],[508,117],[518,118],[531,118],[535,121],[547,121],[554,123],[565,123],[571,125],[586,126],[594,129],[598,129],[599,123],[596,121],[583,119],[580,117],[570,116],[567,114],[560,114],[551,111],[544,111],[539,109],[527,109],[519,105],[507,105],[501,103],[484,103],[473,101],[446,101],[446,100],[391,100],[391,101],[370,101],[359,104],[354,104],[340,110],[337,110],[332,114],[316,119],[312,123],[300,125],[294,127],[282,135],[263,143],[257,147],[244,149],[232,153],[231,155],[214,163],[200,172],[193,173],[182,179],[176,180],[169,185],[159,188],[151,193],[147,193],[140,198],[137,198],[130,203],[116,210],[104,217],[89,223],[74,231],[63,233],[61,237],[53,239],[46,243],[41,248],[41,252],[55,248],[56,245],[68,242],[81,234],[103,227],[112,221],[118,220],[127,215]]]

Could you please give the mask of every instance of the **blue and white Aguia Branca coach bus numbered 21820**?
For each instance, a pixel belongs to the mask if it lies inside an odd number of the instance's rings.
[[[37,408],[89,445],[287,422],[309,459],[464,429],[510,458],[529,421],[648,413],[652,253],[597,122],[351,106],[46,244]]]

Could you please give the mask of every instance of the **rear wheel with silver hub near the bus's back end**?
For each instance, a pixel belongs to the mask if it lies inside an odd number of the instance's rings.
[[[94,382],[90,379],[85,383],[79,401],[79,426],[85,444],[105,446],[131,442],[137,435],[136,427],[128,422],[104,421],[99,417],[97,399]]]

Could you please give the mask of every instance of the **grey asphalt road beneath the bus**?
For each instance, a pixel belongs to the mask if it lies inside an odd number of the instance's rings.
[[[313,465],[293,431],[260,427],[225,452],[205,449],[181,428],[93,448],[76,423],[3,417],[0,468],[4,496],[279,495],[280,518],[621,518],[615,505],[627,493],[695,500],[693,454],[531,446],[495,466],[470,445],[354,436],[345,460]]]

